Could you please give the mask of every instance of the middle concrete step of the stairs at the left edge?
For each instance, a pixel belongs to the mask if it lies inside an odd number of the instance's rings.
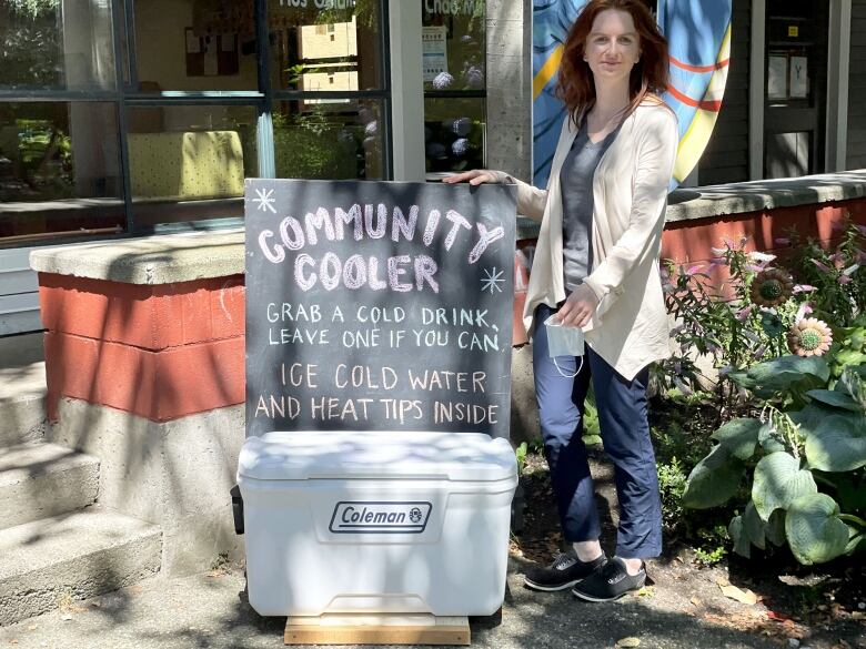
[[[0,529],[92,505],[99,460],[46,443],[0,448]]]

